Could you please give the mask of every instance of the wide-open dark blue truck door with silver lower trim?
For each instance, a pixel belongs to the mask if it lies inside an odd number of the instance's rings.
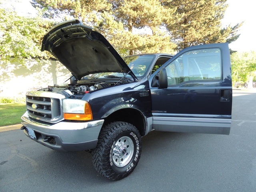
[[[162,68],[167,88],[155,83]],[[150,76],[149,84],[155,130],[229,134],[232,80],[227,43],[182,50]]]

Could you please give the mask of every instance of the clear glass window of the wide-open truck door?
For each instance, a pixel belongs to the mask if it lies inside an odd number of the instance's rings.
[[[186,52],[167,67],[168,86],[186,81],[222,80],[221,52],[218,48]]]

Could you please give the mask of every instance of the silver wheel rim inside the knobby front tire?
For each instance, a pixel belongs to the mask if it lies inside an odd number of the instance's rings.
[[[127,136],[123,136],[119,138],[112,150],[112,159],[116,166],[124,167],[126,166],[130,160],[132,159],[132,155],[134,153],[134,144],[132,139]]]

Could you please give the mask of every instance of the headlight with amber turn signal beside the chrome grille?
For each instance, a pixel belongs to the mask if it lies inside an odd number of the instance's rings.
[[[84,100],[63,100],[63,112],[67,120],[92,120],[90,104]]]

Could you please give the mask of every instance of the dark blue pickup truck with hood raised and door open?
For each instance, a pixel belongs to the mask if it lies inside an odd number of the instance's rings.
[[[78,20],[51,28],[42,41],[72,74],[66,86],[26,93],[25,134],[54,150],[90,150],[96,170],[120,180],[138,164],[152,130],[230,132],[232,81],[227,43],[175,55],[122,58]]]

